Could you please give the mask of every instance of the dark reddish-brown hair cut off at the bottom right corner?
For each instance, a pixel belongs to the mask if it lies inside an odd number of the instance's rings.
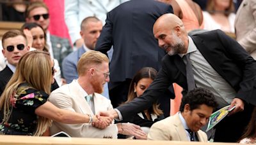
[[[253,109],[252,118],[245,129],[244,134],[242,135],[241,139],[244,138],[255,138],[256,137],[256,107]],[[240,139],[240,140],[241,140]]]

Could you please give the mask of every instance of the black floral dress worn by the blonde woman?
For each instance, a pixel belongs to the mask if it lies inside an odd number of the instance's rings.
[[[22,83],[17,92],[10,97],[10,118],[3,121],[3,109],[0,111],[0,134],[33,135],[36,132],[37,118],[35,109],[44,104],[49,95]]]

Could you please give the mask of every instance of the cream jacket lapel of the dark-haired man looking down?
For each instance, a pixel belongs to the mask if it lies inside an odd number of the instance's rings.
[[[179,113],[176,113],[173,117],[175,118],[173,124],[176,126],[175,130],[177,134],[179,134],[180,141],[189,141],[187,134],[185,132],[185,128],[183,127],[182,122],[180,121]]]

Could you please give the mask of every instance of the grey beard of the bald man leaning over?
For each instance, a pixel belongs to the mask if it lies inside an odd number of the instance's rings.
[[[182,39],[180,39],[174,33],[172,35],[173,35],[173,40],[174,40],[175,44],[168,46],[169,48],[171,48],[171,50],[168,52],[168,55],[170,55],[170,56],[182,53],[186,49],[185,44],[182,41]]]

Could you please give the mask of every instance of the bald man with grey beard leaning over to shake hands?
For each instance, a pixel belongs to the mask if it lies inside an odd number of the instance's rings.
[[[214,141],[236,142],[256,105],[253,96],[256,92],[256,61],[220,30],[188,36],[180,18],[173,14],[159,17],[153,31],[159,46],[168,53],[157,78],[141,97],[101,114],[125,120],[152,106],[172,83],[188,90],[183,57],[189,53],[196,87],[207,88],[214,94],[219,104],[217,109],[236,106],[230,116],[216,125]]]

